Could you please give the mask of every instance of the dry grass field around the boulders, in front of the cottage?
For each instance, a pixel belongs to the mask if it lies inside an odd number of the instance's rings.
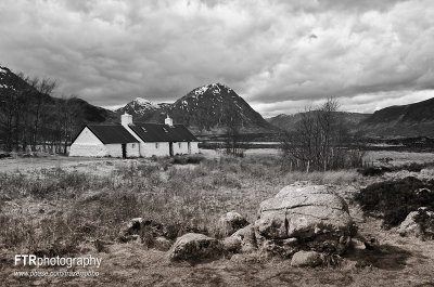
[[[197,161],[0,160],[0,282],[5,286],[434,286],[434,244],[383,230],[379,219],[366,217],[354,203],[360,186],[378,179],[362,178],[355,170],[289,173],[272,155],[209,156]],[[137,217],[170,225],[177,235],[195,231],[213,236],[218,218],[231,210],[254,222],[259,203],[295,181],[335,185],[349,203],[360,232],[380,240],[381,255],[348,253],[359,262],[352,269],[293,269],[283,260],[238,257],[190,266],[169,263],[164,252],[138,243],[116,243],[123,224]],[[97,239],[110,243],[106,252],[98,252]],[[17,278],[14,255],[28,252],[90,253],[101,257],[103,264],[98,278]]]

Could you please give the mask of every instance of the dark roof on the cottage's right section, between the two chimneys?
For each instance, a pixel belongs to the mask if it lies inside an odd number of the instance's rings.
[[[183,126],[136,122],[129,128],[143,142],[197,142],[197,139]]]

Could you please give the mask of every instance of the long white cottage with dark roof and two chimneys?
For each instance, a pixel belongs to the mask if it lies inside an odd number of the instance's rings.
[[[197,154],[197,139],[167,117],[165,125],[132,122],[124,114],[122,125],[87,125],[71,144],[69,156],[151,157]]]

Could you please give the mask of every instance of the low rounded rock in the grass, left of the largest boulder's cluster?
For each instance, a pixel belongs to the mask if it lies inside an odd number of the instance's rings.
[[[173,261],[202,261],[218,258],[222,252],[220,243],[199,233],[188,233],[179,237],[169,250]]]

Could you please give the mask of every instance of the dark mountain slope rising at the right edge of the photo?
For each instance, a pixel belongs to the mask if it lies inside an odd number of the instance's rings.
[[[376,110],[360,123],[369,136],[434,136],[434,97]]]

